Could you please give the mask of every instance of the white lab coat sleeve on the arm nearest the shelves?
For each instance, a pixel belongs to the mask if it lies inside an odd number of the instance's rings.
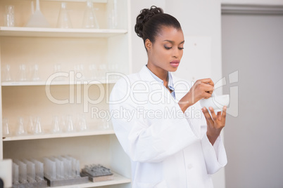
[[[118,81],[111,92],[109,107],[115,134],[132,161],[160,162],[199,139],[185,117],[161,118],[149,123],[137,112],[139,106],[131,100],[129,90],[129,84]],[[168,108],[180,109],[177,103]],[[120,115],[114,116],[119,112]]]

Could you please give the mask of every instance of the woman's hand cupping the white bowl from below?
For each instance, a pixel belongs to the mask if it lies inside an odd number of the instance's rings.
[[[208,112],[208,109],[206,109],[206,107],[203,107],[201,109],[204,116],[206,117],[206,123],[208,125],[206,135],[208,136],[208,140],[211,143],[211,145],[214,145],[215,140],[218,138],[222,128],[225,126],[226,109],[227,107],[223,107],[222,114],[221,112],[218,112],[216,115],[214,109],[212,107],[209,107],[211,116]]]

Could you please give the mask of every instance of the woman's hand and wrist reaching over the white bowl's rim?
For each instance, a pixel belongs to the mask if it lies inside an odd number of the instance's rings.
[[[214,83],[211,79],[199,79],[194,83],[189,92],[179,101],[182,112],[194,105],[199,100],[208,99],[214,90]]]

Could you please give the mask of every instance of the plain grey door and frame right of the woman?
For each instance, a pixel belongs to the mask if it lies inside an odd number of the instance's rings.
[[[231,11],[232,10],[232,11]],[[227,115],[227,188],[282,188],[283,8],[222,7],[222,75],[237,72],[237,114]]]

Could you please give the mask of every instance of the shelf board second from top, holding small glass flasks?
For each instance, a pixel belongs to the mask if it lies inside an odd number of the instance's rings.
[[[1,86],[64,86],[64,85],[77,85],[90,83],[91,81],[52,81],[51,83],[46,83],[46,81],[5,81],[1,83]],[[92,81],[92,84],[107,84],[107,83],[116,83],[116,80],[96,80]]]

